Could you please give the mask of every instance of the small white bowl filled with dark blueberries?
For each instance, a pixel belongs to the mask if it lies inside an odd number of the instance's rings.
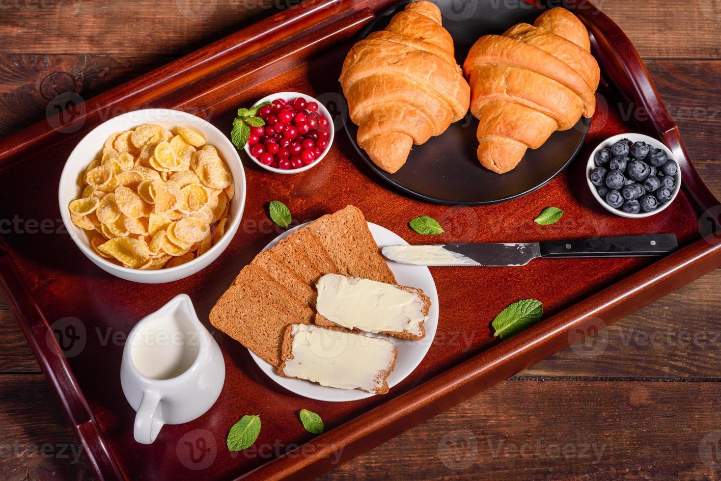
[[[642,134],[615,135],[593,150],[588,188],[609,212],[637,219],[658,214],[676,199],[681,170],[671,150]]]

